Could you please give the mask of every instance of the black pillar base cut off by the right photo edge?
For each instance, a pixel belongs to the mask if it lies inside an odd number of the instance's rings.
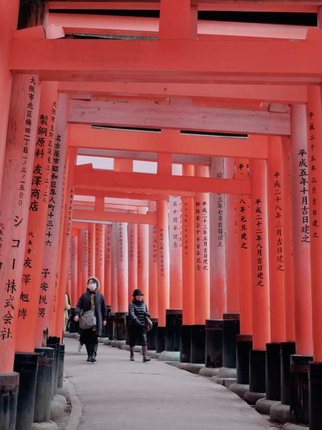
[[[308,364],[310,430],[320,430],[322,422],[322,363]]]

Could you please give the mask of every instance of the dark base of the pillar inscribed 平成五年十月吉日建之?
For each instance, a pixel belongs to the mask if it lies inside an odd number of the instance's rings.
[[[312,355],[291,355],[290,412],[294,411],[297,422],[308,424],[308,363]]]

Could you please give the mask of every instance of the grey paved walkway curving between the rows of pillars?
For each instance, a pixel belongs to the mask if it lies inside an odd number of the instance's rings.
[[[64,338],[66,430],[259,430],[270,423],[231,391],[162,361],[100,344],[96,363]]]

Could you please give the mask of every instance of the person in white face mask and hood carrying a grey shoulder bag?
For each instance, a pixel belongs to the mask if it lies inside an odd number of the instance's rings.
[[[78,299],[75,308],[74,321],[79,320],[81,312],[93,310],[96,316],[96,326],[91,329],[81,329],[79,342],[85,343],[88,353],[87,361],[96,361],[98,338],[103,334],[103,327],[106,326],[107,310],[104,295],[98,292],[100,282],[95,276],[90,276],[87,280],[87,291]]]

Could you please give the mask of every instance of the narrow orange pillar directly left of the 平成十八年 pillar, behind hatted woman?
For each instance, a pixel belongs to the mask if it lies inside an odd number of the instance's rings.
[[[149,313],[157,318],[157,234],[156,225],[149,225]]]

